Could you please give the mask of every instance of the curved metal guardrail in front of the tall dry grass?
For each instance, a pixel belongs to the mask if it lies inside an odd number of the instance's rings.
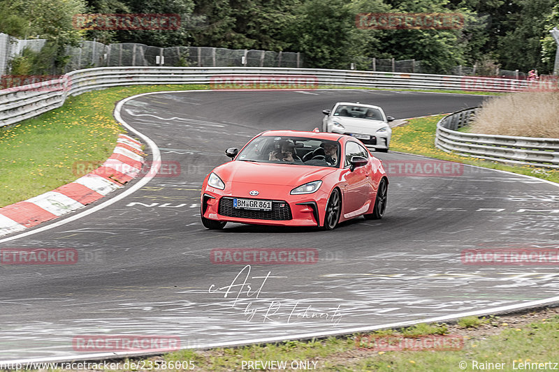
[[[559,168],[559,138],[514,137],[456,131],[475,116],[480,107],[447,115],[437,123],[435,146],[443,151],[502,163]]]

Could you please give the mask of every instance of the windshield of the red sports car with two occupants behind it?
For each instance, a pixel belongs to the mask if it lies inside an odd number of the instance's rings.
[[[261,135],[247,144],[235,160],[337,167],[339,154],[336,141]]]

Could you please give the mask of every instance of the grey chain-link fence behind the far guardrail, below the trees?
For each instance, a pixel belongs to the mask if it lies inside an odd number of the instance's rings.
[[[559,40],[559,30],[553,34]],[[558,41],[559,43],[559,41]],[[9,62],[22,54],[25,47],[41,50],[45,40],[19,40],[0,34],[0,75],[6,75]],[[559,48],[555,73],[559,73]],[[194,66],[194,67],[305,67],[303,56],[295,52],[271,52],[266,50],[231,50],[219,47],[150,47],[138,43],[118,43],[104,45],[96,41],[84,40],[78,47],[67,47],[68,64],[62,70],[50,73],[62,74],[73,70],[106,66]],[[405,59],[377,59],[358,57],[348,68],[353,70],[386,71],[394,73],[425,73],[421,61]],[[449,75],[486,75],[525,79],[526,73],[518,70],[500,70],[481,73],[479,68],[456,66]]]

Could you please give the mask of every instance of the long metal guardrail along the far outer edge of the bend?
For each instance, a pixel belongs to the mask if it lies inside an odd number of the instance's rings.
[[[321,86],[389,89],[460,89],[469,91],[518,91],[529,89],[526,80],[456,75],[384,73],[379,71],[314,70],[310,68],[198,68],[103,67],[75,70],[60,80],[0,90],[0,126],[17,123],[61,106],[66,96],[85,91],[133,84],[209,84],[224,75],[305,75]],[[553,83],[552,83],[553,84]],[[556,84],[556,83],[555,83]]]

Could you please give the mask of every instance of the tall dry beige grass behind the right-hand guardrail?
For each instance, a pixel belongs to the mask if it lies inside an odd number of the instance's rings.
[[[470,133],[559,138],[559,92],[515,93],[483,103]]]

